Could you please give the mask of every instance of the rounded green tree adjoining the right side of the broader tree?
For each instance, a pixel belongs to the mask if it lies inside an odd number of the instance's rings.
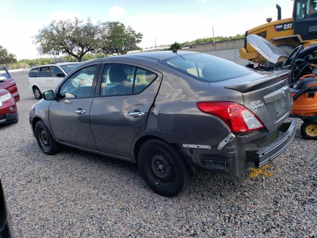
[[[143,34],[136,32],[131,26],[118,21],[102,23],[101,52],[106,54],[124,55],[129,51],[140,50],[137,46],[142,41]]]

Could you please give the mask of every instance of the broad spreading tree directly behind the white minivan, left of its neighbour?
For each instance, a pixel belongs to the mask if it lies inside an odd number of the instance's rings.
[[[53,52],[76,58],[79,62],[88,52],[100,49],[100,23],[93,24],[91,20],[52,21],[48,26],[39,30],[34,37],[34,43],[39,44],[40,54]]]

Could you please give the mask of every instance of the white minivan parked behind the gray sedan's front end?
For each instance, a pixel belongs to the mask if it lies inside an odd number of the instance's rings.
[[[63,78],[81,64],[80,62],[63,62],[32,67],[28,77],[29,91],[36,99],[41,99],[44,92],[54,91]]]

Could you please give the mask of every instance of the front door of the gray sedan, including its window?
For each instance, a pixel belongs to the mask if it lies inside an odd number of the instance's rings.
[[[80,68],[72,73],[55,92],[57,99],[49,108],[55,138],[70,145],[96,150],[89,123],[94,83],[100,64]]]

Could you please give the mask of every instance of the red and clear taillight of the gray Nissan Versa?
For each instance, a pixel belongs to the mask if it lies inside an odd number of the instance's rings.
[[[222,119],[232,132],[248,132],[264,127],[264,124],[254,113],[239,103],[198,102],[196,106],[203,113]]]

